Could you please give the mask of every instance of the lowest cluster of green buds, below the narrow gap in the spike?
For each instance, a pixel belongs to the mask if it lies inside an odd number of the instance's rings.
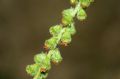
[[[28,65],[26,71],[31,76],[34,76],[34,79],[45,79],[51,69],[51,62],[59,64],[61,61],[62,56],[58,48],[50,50],[48,54],[41,52],[34,56],[35,64]]]

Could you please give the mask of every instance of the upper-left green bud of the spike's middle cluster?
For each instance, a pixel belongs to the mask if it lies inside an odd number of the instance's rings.
[[[53,36],[57,36],[61,30],[62,30],[62,25],[56,25],[49,29],[50,34]]]

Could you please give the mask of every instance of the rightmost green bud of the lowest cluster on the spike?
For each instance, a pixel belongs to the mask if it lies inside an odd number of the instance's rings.
[[[60,54],[60,51],[58,49],[55,49],[55,50],[51,50],[51,52],[53,53],[51,55],[51,60],[52,62],[58,64],[62,61],[62,56]]]

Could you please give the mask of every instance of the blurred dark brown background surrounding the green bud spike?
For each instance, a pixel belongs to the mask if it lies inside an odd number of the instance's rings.
[[[69,0],[0,0],[0,79],[32,79],[26,65],[69,7]],[[120,0],[95,0],[87,13],[48,79],[120,79]]]

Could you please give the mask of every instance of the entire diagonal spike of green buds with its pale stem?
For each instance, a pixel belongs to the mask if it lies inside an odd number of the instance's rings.
[[[34,79],[46,79],[48,71],[51,69],[51,62],[59,64],[62,61],[58,45],[68,46],[72,41],[72,36],[76,33],[74,25],[74,17],[83,21],[87,14],[84,8],[88,7],[93,0],[70,0],[71,7],[62,12],[62,23],[52,26],[49,32],[52,37],[44,43],[45,52],[41,52],[34,56],[35,64],[28,65],[26,71],[34,77]]]

